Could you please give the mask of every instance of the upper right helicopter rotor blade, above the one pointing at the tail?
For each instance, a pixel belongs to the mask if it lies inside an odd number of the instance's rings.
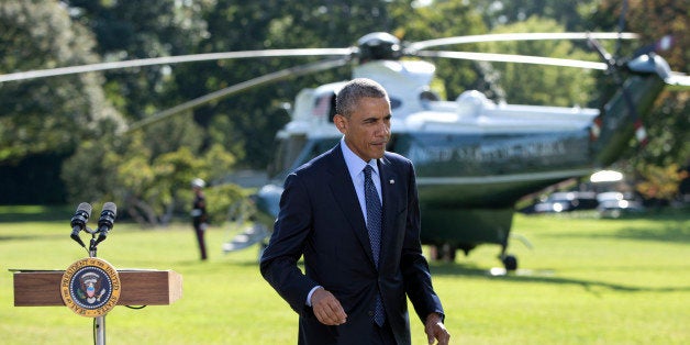
[[[408,45],[408,54],[430,47],[452,44],[482,43],[482,42],[509,42],[509,41],[544,41],[544,40],[636,40],[639,35],[630,32],[564,32],[564,33],[513,33],[513,34],[486,34],[470,36],[455,36],[438,40],[414,42]]]

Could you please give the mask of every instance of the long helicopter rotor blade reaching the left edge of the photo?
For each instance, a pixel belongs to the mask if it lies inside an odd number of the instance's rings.
[[[108,69],[120,69],[131,67],[143,67],[153,65],[170,65],[191,62],[222,60],[235,58],[255,57],[290,57],[290,56],[349,56],[353,48],[300,48],[300,49],[266,49],[266,51],[244,51],[209,54],[191,54],[178,56],[164,56],[153,58],[141,58],[124,62],[100,63],[70,67],[59,67],[51,69],[36,69],[0,75],[0,82],[45,78],[54,76],[74,75],[87,71],[98,71]]]

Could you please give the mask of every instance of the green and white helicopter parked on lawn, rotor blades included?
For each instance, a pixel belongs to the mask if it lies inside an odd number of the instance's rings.
[[[94,64],[0,75],[0,82],[203,59],[331,57],[261,76],[165,110],[130,125],[127,131],[135,131],[249,88],[355,62],[353,78],[374,79],[389,93],[393,134],[387,149],[407,156],[415,166],[422,243],[444,248],[452,257],[456,251],[467,255],[478,245],[496,244],[501,247],[499,258],[505,269],[515,270],[518,259],[508,253],[508,246],[516,201],[548,186],[609,166],[633,136],[644,135],[642,119],[665,86],[690,87],[690,78],[672,73],[654,48],[619,60],[597,41],[636,37],[631,33],[525,33],[402,43],[391,34],[375,32],[347,48],[230,52]],[[453,44],[521,40],[587,40],[603,62],[429,49]],[[658,46],[668,43],[665,38]],[[603,110],[496,103],[476,90],[465,91],[455,100],[443,100],[430,86],[435,66],[420,57],[600,69],[614,76],[620,89]],[[342,134],[333,124],[333,115],[335,98],[346,81],[303,89],[297,94],[291,120],[276,134],[276,155],[267,171],[270,181],[252,196],[256,208],[253,226],[225,243],[224,252],[265,242],[279,212],[282,180],[340,141]]]

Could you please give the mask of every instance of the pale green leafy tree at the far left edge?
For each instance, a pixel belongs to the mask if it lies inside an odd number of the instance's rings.
[[[93,40],[56,1],[0,2],[0,74],[98,60]],[[30,155],[68,154],[121,129],[97,74],[0,84],[0,166]]]

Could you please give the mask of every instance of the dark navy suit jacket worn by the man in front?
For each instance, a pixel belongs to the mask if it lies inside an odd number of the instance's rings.
[[[300,315],[300,344],[364,344],[374,327],[380,291],[398,344],[410,344],[407,297],[424,322],[443,315],[420,244],[420,210],[412,163],[393,153],[378,160],[383,199],[379,268],[340,144],[290,174],[280,213],[260,269],[264,278]],[[298,267],[303,255],[304,270]],[[331,291],[347,322],[326,326],[305,305],[318,286]],[[423,336],[423,335],[420,335]]]

